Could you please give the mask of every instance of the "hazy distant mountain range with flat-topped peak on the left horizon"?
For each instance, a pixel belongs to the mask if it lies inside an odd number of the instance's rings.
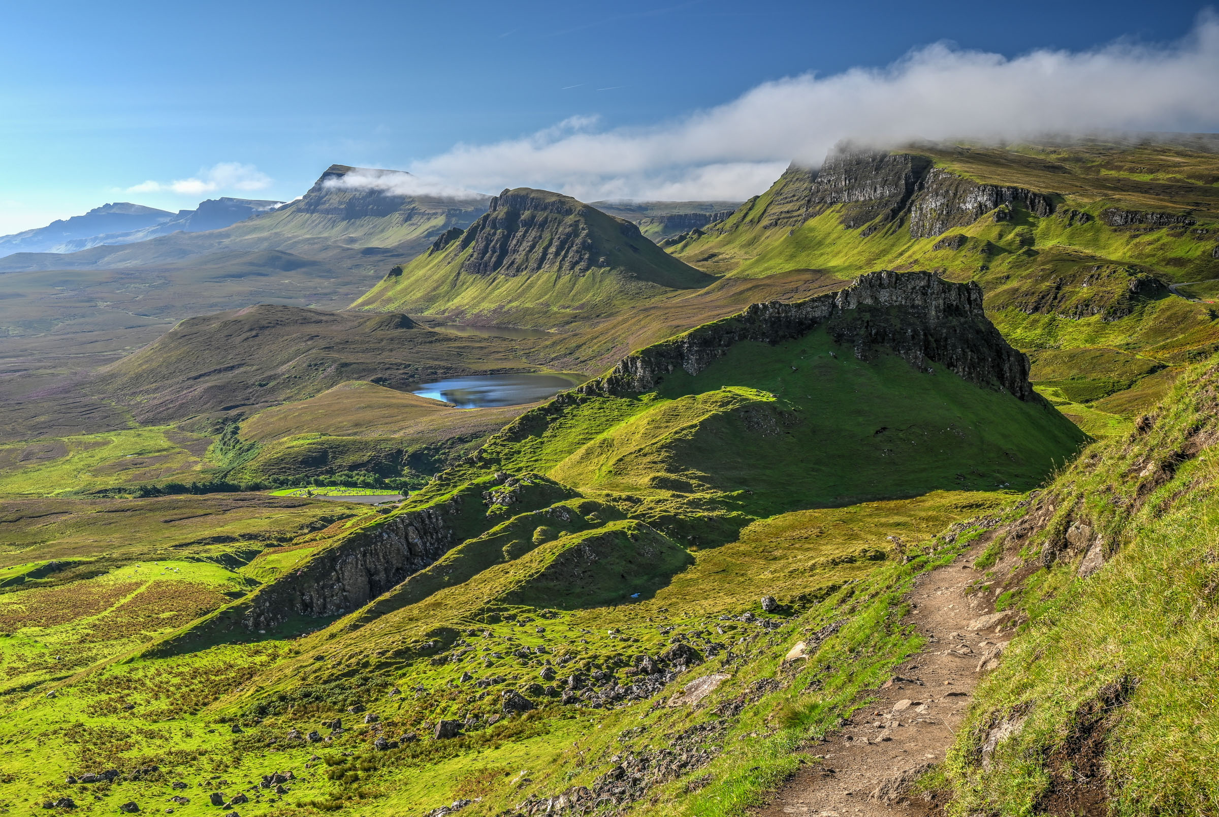
[[[154,230],[146,240],[135,237],[121,245],[95,245],[62,255],[15,251],[0,259],[0,272],[143,267],[227,250],[286,251],[367,271],[379,255],[400,259],[421,252],[445,229],[466,227],[486,211],[490,196],[413,194],[414,182],[400,171],[332,165],[304,196],[283,207],[269,210],[275,202],[219,199],[205,202],[207,207],[200,205],[169,235]],[[251,206],[243,221],[213,227],[238,215],[243,205]]]

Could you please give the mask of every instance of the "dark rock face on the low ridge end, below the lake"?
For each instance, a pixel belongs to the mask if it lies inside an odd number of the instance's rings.
[[[243,623],[267,629],[293,615],[338,616],[363,606],[457,544],[446,518],[457,508],[450,501],[354,532],[256,593]]]

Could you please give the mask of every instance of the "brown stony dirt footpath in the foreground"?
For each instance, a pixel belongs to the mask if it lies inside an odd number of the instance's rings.
[[[907,596],[913,608],[904,621],[929,643],[892,680],[865,693],[875,700],[850,723],[808,750],[814,762],[756,810],[757,817],[917,817],[929,810],[920,797],[904,796],[909,783],[944,760],[980,667],[997,663],[1007,641],[995,630],[1002,616],[964,594],[980,576],[973,560],[984,548],[979,543],[952,565],[919,577]]]

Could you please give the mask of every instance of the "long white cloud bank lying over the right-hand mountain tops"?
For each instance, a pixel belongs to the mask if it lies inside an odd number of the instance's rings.
[[[573,117],[529,137],[458,144],[416,162],[438,184],[612,198],[744,199],[790,160],[818,165],[842,139],[1004,140],[1219,127],[1219,18],[1167,46],[1119,40],[1089,51],[1007,59],[935,44],[885,68],[763,83],[651,128],[597,129]]]

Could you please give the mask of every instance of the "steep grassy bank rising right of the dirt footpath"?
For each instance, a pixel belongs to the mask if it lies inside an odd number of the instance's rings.
[[[1219,802],[1219,359],[1187,369],[1007,527],[978,593],[1022,623],[945,771],[950,813]]]

